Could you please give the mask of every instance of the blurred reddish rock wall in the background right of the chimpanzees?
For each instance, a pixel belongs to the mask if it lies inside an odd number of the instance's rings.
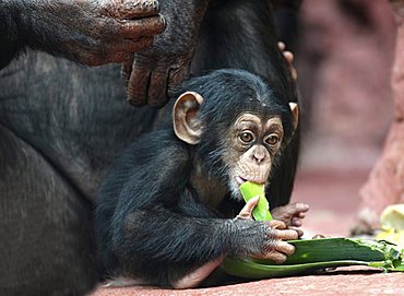
[[[391,7],[380,0],[305,0],[300,19],[302,169],[370,170],[393,114]]]

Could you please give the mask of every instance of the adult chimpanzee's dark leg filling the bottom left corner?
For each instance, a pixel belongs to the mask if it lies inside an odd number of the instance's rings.
[[[82,295],[96,283],[90,203],[0,126],[1,295]]]

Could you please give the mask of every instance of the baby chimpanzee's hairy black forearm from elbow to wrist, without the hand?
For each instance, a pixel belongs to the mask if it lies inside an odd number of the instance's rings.
[[[122,273],[163,285],[225,254],[262,252],[269,230],[264,223],[192,217],[161,206],[128,212],[119,224],[112,248]]]

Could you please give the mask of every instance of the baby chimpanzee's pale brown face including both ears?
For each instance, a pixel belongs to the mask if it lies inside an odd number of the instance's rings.
[[[228,187],[234,198],[241,199],[242,182],[268,183],[281,150],[290,138],[285,135],[283,113],[261,105],[241,111],[230,107],[228,113],[223,110],[206,119],[200,110],[203,102],[195,92],[186,92],[177,99],[173,110],[175,133],[183,142],[198,146],[198,156],[209,173],[206,178],[214,176]],[[292,116],[286,120],[294,130],[298,108],[295,103],[289,103],[289,108]]]

